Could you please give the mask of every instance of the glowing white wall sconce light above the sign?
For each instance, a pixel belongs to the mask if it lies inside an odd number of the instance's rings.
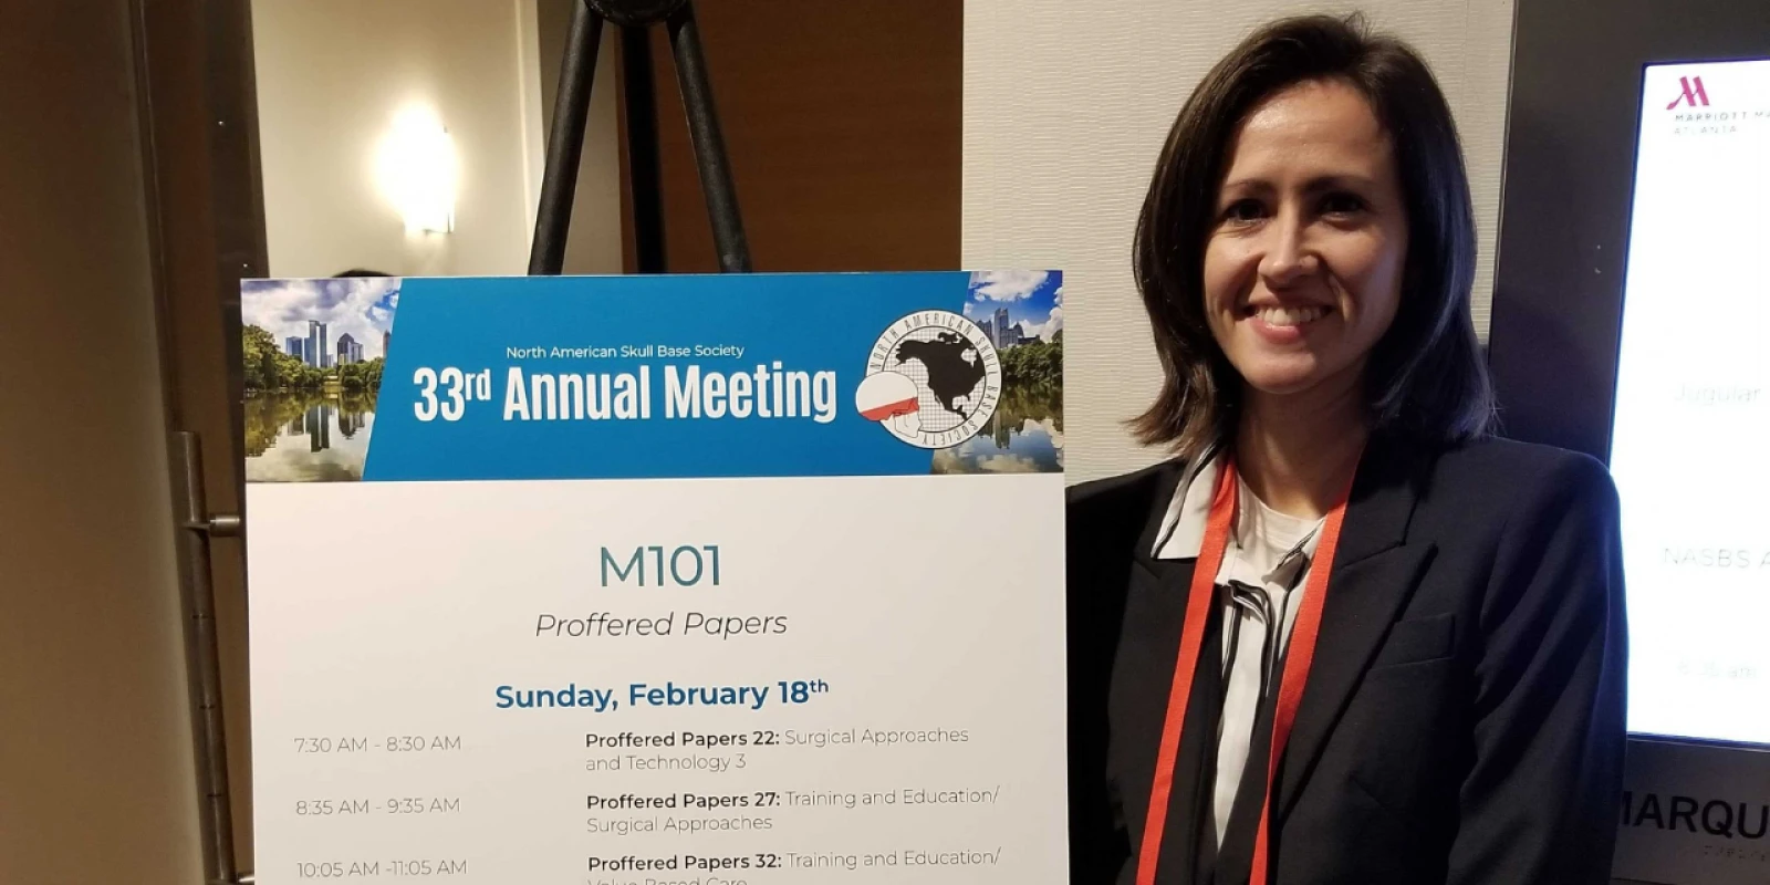
[[[381,143],[377,179],[407,232],[455,230],[457,175],[455,140],[435,112],[411,106],[395,115]]]

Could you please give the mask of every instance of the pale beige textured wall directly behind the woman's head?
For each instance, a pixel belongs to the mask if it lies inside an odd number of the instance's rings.
[[[1512,0],[1368,0],[1379,28],[1427,55],[1462,129],[1487,333]],[[1159,368],[1131,285],[1131,228],[1174,113],[1237,39],[1281,12],[1255,0],[968,0],[965,4],[965,267],[1060,267],[1071,480],[1159,458],[1124,432]]]

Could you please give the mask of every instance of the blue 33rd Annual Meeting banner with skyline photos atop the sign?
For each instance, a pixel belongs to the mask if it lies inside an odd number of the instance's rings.
[[[1058,273],[253,280],[241,304],[248,481],[1062,471]]]

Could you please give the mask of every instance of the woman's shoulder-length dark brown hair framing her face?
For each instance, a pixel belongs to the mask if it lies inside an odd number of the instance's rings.
[[[1483,435],[1494,416],[1469,289],[1474,211],[1450,104],[1405,42],[1359,16],[1266,25],[1216,64],[1181,108],[1136,219],[1133,262],[1166,375],[1135,423],[1145,444],[1200,457],[1235,434],[1241,375],[1205,322],[1204,251],[1218,189],[1243,120],[1304,81],[1340,81],[1370,103],[1395,142],[1407,207],[1400,304],[1370,352],[1365,398],[1374,432],[1450,444]]]

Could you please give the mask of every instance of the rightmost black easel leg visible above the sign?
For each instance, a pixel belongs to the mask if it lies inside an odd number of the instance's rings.
[[[706,57],[701,51],[701,30],[694,23],[692,2],[683,4],[669,18],[669,42],[676,55],[676,80],[681,85],[681,106],[689,117],[689,136],[694,140],[694,159],[701,170],[706,214],[713,221],[719,269],[726,273],[749,271],[750,244],[743,237],[738,189],[731,182],[726,140],[719,133],[719,115],[713,113],[713,87],[706,76]]]

